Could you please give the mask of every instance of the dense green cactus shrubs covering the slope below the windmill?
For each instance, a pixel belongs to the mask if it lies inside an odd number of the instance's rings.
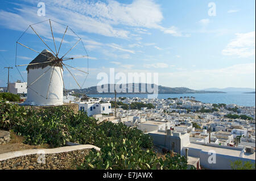
[[[184,157],[158,159],[152,138],[136,128],[97,120],[66,106],[31,110],[0,102],[0,129],[12,130],[30,145],[64,146],[66,141],[92,144],[100,152],[90,151],[78,169],[187,169]]]

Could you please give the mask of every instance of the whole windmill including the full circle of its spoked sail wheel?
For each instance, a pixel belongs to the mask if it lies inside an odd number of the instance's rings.
[[[53,23],[56,24],[56,33],[53,32]],[[40,35],[38,31],[36,31],[35,26],[38,28],[38,30],[43,30],[43,35]],[[64,30],[64,32],[61,33],[61,30]],[[26,37],[23,38],[25,34]],[[61,36],[56,37],[54,34]],[[67,36],[69,36],[69,39]],[[36,37],[40,43],[35,43],[32,37]],[[35,48],[23,43],[21,41],[22,38],[24,41],[32,39]],[[74,40],[75,43],[71,43]],[[57,48],[57,41],[60,42],[59,48]],[[72,50],[74,50],[79,43],[81,45],[81,49],[76,49],[80,53],[79,56],[70,55]],[[18,47],[23,48],[21,52],[26,53],[25,55],[32,52],[36,53],[37,56],[28,64],[18,64],[17,61],[20,59],[20,57],[24,57],[18,55]],[[75,59],[82,59],[83,65],[86,62],[87,71],[77,69],[75,66],[71,66],[70,64],[68,65],[66,63]],[[73,78],[79,88],[82,89],[82,86],[88,77],[88,53],[86,52],[84,44],[82,43],[81,37],[79,37],[69,26],[48,19],[28,26],[27,30],[24,31],[16,41],[15,67],[23,81],[24,78],[18,68],[25,66],[27,70],[27,100],[24,104],[34,106],[61,105],[63,104],[63,90],[67,98],[67,92],[63,79],[64,70],[67,70],[68,74]],[[82,85],[79,83],[79,81],[77,81],[75,73],[72,73],[73,70],[75,70],[75,72],[82,73],[82,75],[80,75],[84,79]]]

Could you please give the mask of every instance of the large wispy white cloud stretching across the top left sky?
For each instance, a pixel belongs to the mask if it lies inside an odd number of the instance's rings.
[[[42,21],[37,16],[36,1],[22,0],[31,3],[32,6],[19,5],[15,13],[0,11],[0,22],[12,30],[25,30],[28,24]],[[47,16],[44,18],[55,19],[63,24],[68,24],[80,32],[97,33],[104,36],[129,38],[130,31],[125,28],[117,28],[122,24],[133,28],[134,32],[149,33],[145,28],[155,28],[173,36],[181,36],[176,27],[164,28],[160,26],[163,14],[160,5],[153,0],[134,0],[130,4],[119,3],[114,0],[82,1],[82,0],[44,0],[47,7]],[[57,9],[57,11],[56,11]],[[24,27],[24,25],[26,27]],[[137,39],[141,39],[138,37]]]

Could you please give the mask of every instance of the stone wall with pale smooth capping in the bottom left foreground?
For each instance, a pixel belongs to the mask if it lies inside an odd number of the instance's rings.
[[[55,149],[32,149],[0,154],[0,170],[76,169],[93,145],[64,146]]]

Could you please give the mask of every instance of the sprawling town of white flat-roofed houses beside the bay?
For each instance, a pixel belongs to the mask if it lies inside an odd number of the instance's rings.
[[[85,98],[73,102],[79,104],[79,110],[100,121],[122,122],[140,129],[150,134],[156,149],[186,155],[188,163],[197,169],[200,165],[229,169],[229,159],[255,161],[255,107],[201,103],[195,97],[186,96],[135,97],[116,98],[115,110],[115,98]],[[214,164],[205,157],[210,150],[216,154]]]

